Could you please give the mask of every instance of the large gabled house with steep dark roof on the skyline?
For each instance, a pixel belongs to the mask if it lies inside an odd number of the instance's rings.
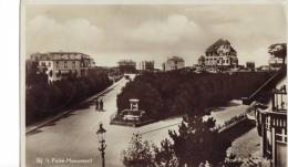
[[[219,39],[205,52],[205,66],[230,69],[238,65],[236,50],[227,40]]]

